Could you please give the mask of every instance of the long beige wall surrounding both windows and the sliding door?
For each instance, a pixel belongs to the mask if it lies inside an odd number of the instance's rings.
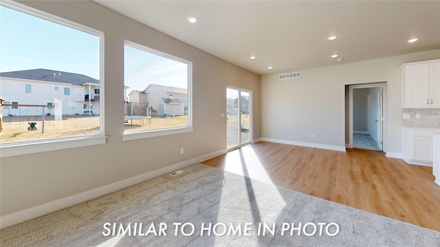
[[[1,216],[83,193],[226,148],[226,86],[254,92],[254,138],[260,128],[260,76],[215,58],[92,1],[24,1],[104,32],[107,143],[1,158]],[[124,40],[192,61],[194,131],[122,141]],[[60,90],[63,90],[60,88]],[[24,89],[23,89],[24,91]],[[180,154],[180,149],[185,154]],[[142,154],[142,155],[140,155]],[[146,158],[147,157],[147,158]]]

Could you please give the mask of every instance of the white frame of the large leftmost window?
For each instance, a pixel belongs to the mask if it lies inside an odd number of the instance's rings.
[[[104,92],[104,32],[96,30],[92,27],[87,27],[80,23],[76,23],[74,21],[69,21],[63,17],[32,8],[28,5],[17,3],[15,1],[1,1],[0,5],[5,8],[10,8],[11,10],[29,14],[45,21],[51,21],[52,23],[63,25],[64,27],[73,28],[87,34],[98,36],[100,39],[100,91]],[[56,88],[55,90],[57,91]],[[100,132],[98,134],[0,143],[0,158],[54,150],[64,150],[69,148],[80,148],[89,145],[100,145],[106,143],[107,137],[104,135],[104,97],[102,96],[100,98]]]

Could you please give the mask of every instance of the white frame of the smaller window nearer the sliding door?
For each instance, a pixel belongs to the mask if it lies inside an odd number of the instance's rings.
[[[170,127],[170,128],[156,128],[152,130],[135,130],[126,132],[124,130],[123,141],[131,141],[136,139],[145,139],[151,137],[162,137],[170,134],[181,134],[186,132],[192,132],[194,128],[192,127],[192,62],[186,60],[184,58],[179,58],[177,56],[173,56],[170,54],[166,54],[163,51],[158,51],[156,49],[146,47],[144,45],[140,45],[138,43],[134,43],[129,40],[124,40],[124,46],[127,45],[129,47],[140,49],[141,51],[146,51],[151,54],[155,54],[157,56],[162,56],[164,58],[168,58],[171,60],[175,60],[177,62],[182,62],[188,65],[188,124],[186,126],[178,126],[178,127]],[[125,54],[124,54],[125,60]],[[125,70],[125,69],[124,69]],[[125,82],[124,82],[125,84]]]

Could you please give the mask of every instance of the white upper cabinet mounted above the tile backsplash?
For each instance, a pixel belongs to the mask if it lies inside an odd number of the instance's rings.
[[[440,59],[402,65],[402,108],[440,108]]]

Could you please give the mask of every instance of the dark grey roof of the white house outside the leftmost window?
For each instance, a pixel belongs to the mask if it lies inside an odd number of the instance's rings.
[[[3,72],[0,73],[0,77],[39,80],[44,82],[61,82],[77,86],[82,86],[87,82],[99,84],[99,80],[91,78],[87,75],[64,71],[54,71],[50,69],[29,69],[24,71]]]

